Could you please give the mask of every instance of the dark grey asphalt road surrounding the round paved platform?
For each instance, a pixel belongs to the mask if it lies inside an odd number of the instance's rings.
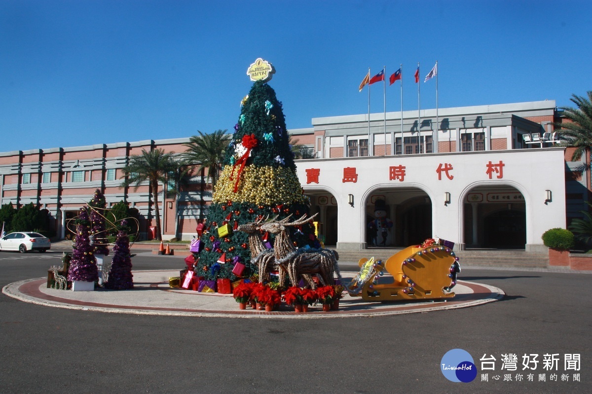
[[[0,286],[46,276],[57,252],[0,252]],[[133,264],[184,266],[180,257],[146,254]],[[2,294],[0,393],[592,392],[592,274],[464,269],[459,279],[507,296],[464,309],[298,321],[76,311]],[[474,359],[470,383],[440,372],[454,348]],[[516,371],[501,369],[502,354],[517,355]],[[523,354],[539,354],[535,370],[523,370]],[[543,369],[544,354],[559,354],[556,370]],[[565,354],[580,354],[580,370],[565,369]],[[495,370],[482,370],[483,355],[495,357]]]

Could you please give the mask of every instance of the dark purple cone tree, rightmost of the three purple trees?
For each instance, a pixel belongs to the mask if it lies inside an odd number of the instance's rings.
[[[130,238],[127,236],[127,221],[122,220],[117,240],[113,247],[113,260],[105,288],[112,290],[128,290],[134,288],[131,274]]]

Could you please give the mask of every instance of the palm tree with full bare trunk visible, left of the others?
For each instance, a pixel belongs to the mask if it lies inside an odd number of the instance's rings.
[[[143,149],[141,154],[130,156],[130,162],[123,168],[122,187],[134,185],[134,190],[137,190],[144,182],[150,184],[156,213],[156,239],[159,241],[162,241],[162,231],[158,204],[158,183],[162,182],[166,185],[169,173],[176,172],[178,167],[179,163],[173,153],[165,153],[163,149],[150,151]]]

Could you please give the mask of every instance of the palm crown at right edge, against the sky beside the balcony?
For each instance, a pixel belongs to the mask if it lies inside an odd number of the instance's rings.
[[[567,140],[565,145],[575,147],[572,161],[580,160],[584,151],[592,146],[592,91],[587,92],[588,97],[572,95],[570,99],[578,108],[570,106],[561,107],[567,121],[555,123],[559,127],[559,133]]]

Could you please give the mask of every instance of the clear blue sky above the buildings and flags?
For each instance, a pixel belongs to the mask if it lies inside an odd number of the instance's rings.
[[[0,151],[232,130],[258,57],[288,128],[368,112],[363,77],[403,64],[403,108],[592,90],[592,2],[0,1]],[[387,111],[400,111],[400,82]],[[383,111],[382,84],[371,112]]]

